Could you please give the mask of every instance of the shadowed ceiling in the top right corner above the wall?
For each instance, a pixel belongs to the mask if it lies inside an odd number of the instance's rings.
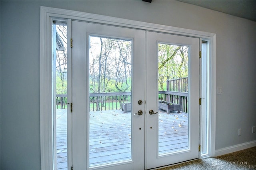
[[[211,10],[256,21],[256,0],[180,0]]]

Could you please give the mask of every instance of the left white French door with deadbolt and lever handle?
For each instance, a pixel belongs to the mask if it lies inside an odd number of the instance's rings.
[[[144,169],[144,31],[73,21],[72,40],[73,168]]]

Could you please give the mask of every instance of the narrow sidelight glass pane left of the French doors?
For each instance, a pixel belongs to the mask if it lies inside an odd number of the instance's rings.
[[[53,24],[53,80],[56,93],[54,106],[54,162],[56,169],[68,168],[67,147],[67,24],[54,22]]]

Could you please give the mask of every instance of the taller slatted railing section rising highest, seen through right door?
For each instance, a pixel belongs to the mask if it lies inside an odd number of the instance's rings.
[[[167,80],[166,91],[188,92],[188,77]]]

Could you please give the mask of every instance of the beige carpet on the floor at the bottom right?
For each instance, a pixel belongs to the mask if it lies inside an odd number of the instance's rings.
[[[256,147],[230,154],[194,160],[159,170],[252,170],[256,169]]]

